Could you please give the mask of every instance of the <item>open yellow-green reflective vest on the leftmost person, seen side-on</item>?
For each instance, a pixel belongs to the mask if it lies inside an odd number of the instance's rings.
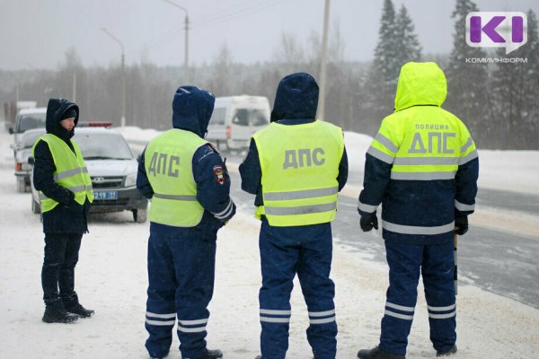
[[[79,149],[75,141],[71,141],[75,153],[69,148],[69,146],[58,136],[52,134],[45,134],[40,137],[40,140],[43,140],[49,145],[50,153],[56,166],[56,171],[54,172],[54,181],[64,187],[69,189],[75,194],[75,201],[79,205],[84,205],[86,198],[93,202],[93,188],[92,180],[86,169],[86,164],[84,163],[83,154]],[[40,141],[36,141],[32,148],[32,153],[35,151],[35,146]],[[35,153],[34,153],[35,156]],[[52,198],[46,197],[40,191],[40,204],[41,212],[45,213],[52,210],[58,205],[58,202]]]

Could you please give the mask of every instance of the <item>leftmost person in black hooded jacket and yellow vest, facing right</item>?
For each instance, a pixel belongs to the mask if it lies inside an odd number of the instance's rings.
[[[93,315],[75,293],[75,265],[86,215],[93,201],[92,181],[78,145],[71,139],[79,118],[75,103],[50,99],[46,130],[33,146],[33,185],[40,191],[45,232],[41,271],[47,323],[70,323]],[[58,291],[59,288],[59,291]]]

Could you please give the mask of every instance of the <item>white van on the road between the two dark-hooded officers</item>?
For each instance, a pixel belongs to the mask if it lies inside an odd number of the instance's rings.
[[[263,96],[217,97],[206,139],[225,150],[249,147],[251,136],[270,123],[270,101]]]

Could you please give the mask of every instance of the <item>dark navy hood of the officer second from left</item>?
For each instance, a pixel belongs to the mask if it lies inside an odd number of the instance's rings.
[[[172,101],[172,127],[185,129],[204,138],[216,103],[215,96],[196,86],[181,86]]]

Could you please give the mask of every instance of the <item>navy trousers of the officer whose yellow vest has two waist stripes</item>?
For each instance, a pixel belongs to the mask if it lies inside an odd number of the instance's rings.
[[[261,354],[264,359],[284,359],[288,348],[290,293],[299,279],[309,312],[307,340],[316,359],[334,359],[337,323],[330,279],[331,223],[273,227],[262,220],[260,233],[262,286]]]

